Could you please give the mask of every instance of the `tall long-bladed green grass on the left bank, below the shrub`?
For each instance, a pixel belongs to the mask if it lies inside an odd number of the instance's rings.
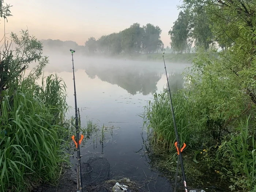
[[[0,191],[29,191],[38,182],[56,182],[62,163],[67,161],[62,148],[68,133],[63,127],[65,84],[53,75],[41,85],[25,78],[3,95]]]

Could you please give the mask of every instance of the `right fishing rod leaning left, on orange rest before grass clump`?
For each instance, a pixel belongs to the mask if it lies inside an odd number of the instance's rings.
[[[165,53],[163,52],[163,49],[162,49],[162,55],[163,54],[165,54]],[[164,56],[163,56],[163,63],[165,64]],[[184,146],[182,148],[180,148],[180,141],[179,141],[179,136],[178,136],[178,130],[177,130],[177,127],[176,127],[176,121],[175,121],[174,110],[173,110],[173,103],[172,103],[172,96],[171,96],[171,91],[170,91],[170,86],[169,86],[168,75],[167,75],[167,71],[166,71],[166,65],[165,65],[165,73],[166,73],[167,84],[168,84],[168,89],[169,89],[170,102],[171,102],[171,108],[172,108],[172,114],[173,114],[173,124],[174,124],[174,130],[175,130],[175,135],[176,135],[175,146],[176,146],[178,155],[180,156],[181,172],[182,172],[185,192],[188,192],[187,182],[186,182],[186,177],[185,177],[185,172],[184,172],[184,166],[183,166],[183,161],[182,161],[182,155],[181,155],[181,152],[186,147],[186,144],[184,143]],[[177,164],[179,164],[179,161],[177,162]],[[178,169],[178,165],[177,165],[177,169]],[[177,173],[176,173],[176,177],[177,177]]]

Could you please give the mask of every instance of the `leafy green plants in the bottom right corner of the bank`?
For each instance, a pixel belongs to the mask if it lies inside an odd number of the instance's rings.
[[[256,143],[254,134],[249,132],[249,119],[236,132],[231,133],[219,146],[218,158],[222,159],[223,174],[230,177],[230,188],[241,187],[251,190],[256,183]]]

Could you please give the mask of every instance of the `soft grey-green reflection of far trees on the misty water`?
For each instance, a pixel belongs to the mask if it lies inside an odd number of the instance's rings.
[[[85,72],[89,78],[98,77],[104,82],[117,84],[131,95],[138,93],[148,95],[157,91],[157,83],[165,75],[162,68],[152,69],[150,65],[140,67],[134,65],[114,65],[112,67],[89,65],[85,67]],[[180,70],[171,70],[168,74],[170,89],[173,91],[177,91],[183,86],[184,79],[181,72]]]

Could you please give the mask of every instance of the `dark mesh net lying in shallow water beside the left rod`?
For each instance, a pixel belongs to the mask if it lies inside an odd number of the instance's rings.
[[[77,165],[74,166],[77,171]],[[110,165],[106,158],[92,157],[81,163],[83,185],[99,184],[109,179]]]

